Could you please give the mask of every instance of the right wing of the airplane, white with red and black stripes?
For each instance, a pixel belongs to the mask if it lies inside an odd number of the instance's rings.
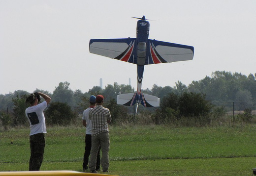
[[[194,55],[192,46],[151,39],[147,42],[147,49],[145,65],[192,60]]]

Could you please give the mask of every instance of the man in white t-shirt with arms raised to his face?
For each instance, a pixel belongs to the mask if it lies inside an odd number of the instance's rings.
[[[41,97],[45,101],[41,101]],[[50,103],[51,98],[41,92],[35,92],[27,98],[26,102],[30,103],[25,111],[26,117],[30,122],[30,168],[29,171],[39,171],[42,161],[45,147],[44,133],[46,133],[44,109]]]

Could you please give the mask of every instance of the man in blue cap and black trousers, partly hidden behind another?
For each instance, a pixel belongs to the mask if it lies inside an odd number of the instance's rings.
[[[85,133],[85,153],[84,153],[84,162],[83,162],[83,172],[88,172],[88,162],[89,156],[91,154],[92,148],[92,122],[89,119],[89,110],[94,108],[96,105],[96,97],[92,95],[90,97],[90,106],[83,112],[83,126],[86,127]],[[100,171],[100,147],[98,149],[97,158],[96,158],[96,171]]]

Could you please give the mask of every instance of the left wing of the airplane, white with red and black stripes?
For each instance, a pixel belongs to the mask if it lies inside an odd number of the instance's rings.
[[[136,38],[91,39],[89,50],[94,54],[137,64],[136,46]]]

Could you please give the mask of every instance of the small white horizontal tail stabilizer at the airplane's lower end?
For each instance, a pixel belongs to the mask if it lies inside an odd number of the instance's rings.
[[[138,95],[137,92],[129,94],[120,94],[117,96],[117,103],[126,106],[132,106],[136,103],[144,107],[158,107],[160,106],[160,99],[156,96],[143,94]]]

